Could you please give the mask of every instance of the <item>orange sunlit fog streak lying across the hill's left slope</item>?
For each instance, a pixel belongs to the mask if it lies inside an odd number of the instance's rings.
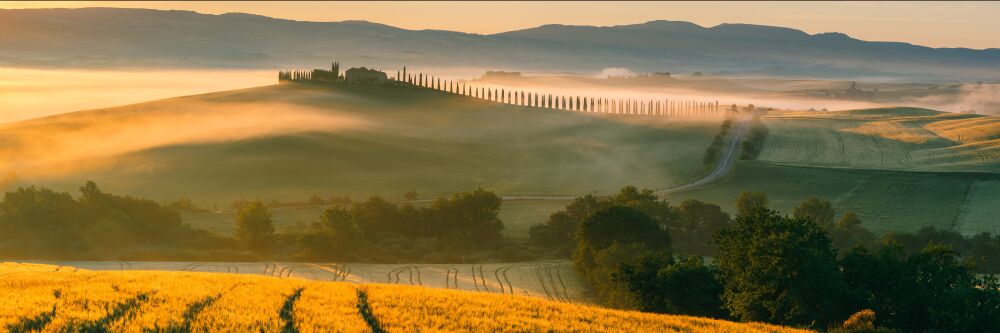
[[[0,145],[0,186],[17,178],[61,176],[104,167],[114,164],[118,156],[156,147],[362,126],[363,120],[332,108],[173,99],[43,117],[0,125],[0,142],[4,143]]]

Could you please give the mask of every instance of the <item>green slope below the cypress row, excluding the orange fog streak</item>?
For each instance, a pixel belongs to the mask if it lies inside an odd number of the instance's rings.
[[[209,113],[252,103],[281,110],[272,115],[276,121],[287,110],[318,108],[366,125],[152,147],[118,157],[111,167],[41,183],[72,189],[95,179],[113,192],[160,200],[186,195],[219,204],[240,197],[303,200],[311,193],[398,197],[417,190],[429,197],[476,187],[502,195],[607,193],[625,184],[665,187],[695,177],[718,126],[544,111],[413,89],[278,85],[83,112],[91,117],[57,116],[23,127],[114,122],[122,114],[169,112],[189,103]],[[0,129],[0,138],[30,133],[17,126]]]

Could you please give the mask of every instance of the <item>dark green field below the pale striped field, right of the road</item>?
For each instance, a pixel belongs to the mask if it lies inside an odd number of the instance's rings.
[[[770,206],[791,214],[810,196],[829,200],[838,212],[854,211],[877,232],[923,226],[971,234],[1000,227],[996,199],[1000,174],[820,168],[741,162],[729,179],[672,194],[680,203],[699,199],[734,212],[742,191],[764,191]]]

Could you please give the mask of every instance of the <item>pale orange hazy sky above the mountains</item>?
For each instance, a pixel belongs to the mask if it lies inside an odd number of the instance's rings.
[[[136,7],[304,21],[366,20],[406,29],[496,33],[548,23],[650,20],[752,23],[932,47],[1000,48],[1000,2],[14,2],[0,8]]]

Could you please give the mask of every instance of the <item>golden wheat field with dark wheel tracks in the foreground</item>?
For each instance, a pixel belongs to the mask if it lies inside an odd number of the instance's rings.
[[[268,276],[0,264],[10,332],[806,332],[519,295]]]

